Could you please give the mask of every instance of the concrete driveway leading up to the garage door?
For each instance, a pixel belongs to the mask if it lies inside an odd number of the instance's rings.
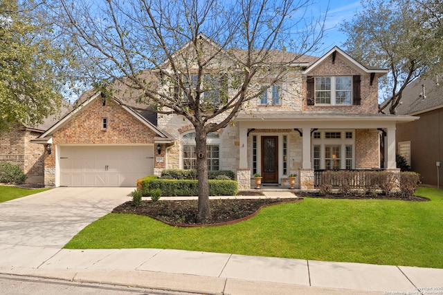
[[[0,203],[0,245],[62,248],[127,200],[133,187],[58,187]]]

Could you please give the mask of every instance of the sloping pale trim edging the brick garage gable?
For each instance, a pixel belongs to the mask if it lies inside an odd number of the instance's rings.
[[[60,129],[62,126],[67,124],[71,119],[75,116],[76,113],[78,113],[82,108],[87,107],[93,100],[95,100],[97,97],[101,96],[102,93],[100,92],[93,92],[93,91],[87,91],[84,93],[81,97],[82,103],[79,104],[76,108],[74,108],[70,113],[65,115],[62,120],[58,121],[57,123],[53,124],[48,130],[46,130],[45,133],[37,137],[37,139],[33,140],[35,143],[46,143],[49,140],[51,140],[51,137],[53,133],[55,133],[58,129]],[[152,124],[150,121],[148,121],[143,115],[138,113],[137,111],[134,111],[134,109],[131,108],[131,106],[127,106],[125,104],[122,104],[120,100],[113,98],[113,101],[116,102],[119,106],[121,106],[125,111],[127,111],[129,114],[133,115],[138,121],[140,121],[142,124],[147,126],[149,129],[154,131],[156,134],[156,137],[154,139],[155,142],[159,143],[170,143],[174,141],[174,138],[166,133],[165,131],[161,131],[158,129],[154,124]]]

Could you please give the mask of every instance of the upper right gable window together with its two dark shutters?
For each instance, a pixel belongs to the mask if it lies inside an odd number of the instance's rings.
[[[354,76],[307,77],[308,106],[360,105],[361,78]]]

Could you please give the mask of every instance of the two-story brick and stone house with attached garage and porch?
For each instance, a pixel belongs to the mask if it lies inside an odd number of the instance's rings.
[[[208,169],[234,171],[239,189],[250,189],[255,173],[265,185],[286,185],[296,174],[296,187],[313,189],[314,171],[379,169],[383,132],[384,166],[398,171],[395,126],[415,117],[378,113],[377,80],[388,70],[363,66],[338,47],[292,66],[233,124],[208,135]],[[37,138],[53,151],[45,159],[45,184],[134,186],[165,168],[195,168],[192,124],[180,115],[150,122],[133,100],[86,93],[79,108]]]

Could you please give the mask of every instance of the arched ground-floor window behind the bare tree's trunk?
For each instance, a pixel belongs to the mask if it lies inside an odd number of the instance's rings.
[[[206,151],[208,170],[220,169],[220,139],[218,133],[208,133],[206,137]],[[181,165],[183,169],[197,169],[197,155],[195,153],[195,131],[181,135]]]

